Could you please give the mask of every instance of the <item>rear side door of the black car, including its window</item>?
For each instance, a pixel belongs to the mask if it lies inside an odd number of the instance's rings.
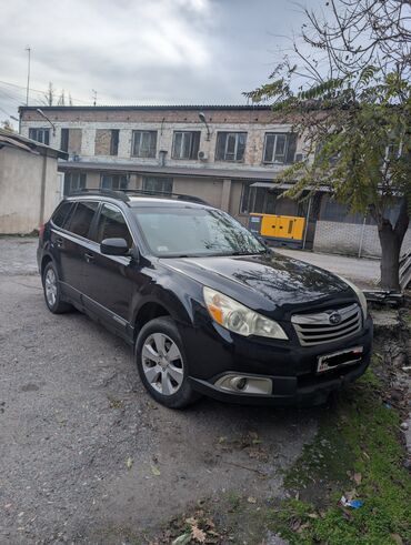
[[[51,232],[61,290],[78,304],[84,287],[84,262],[90,249],[88,236],[98,206],[97,201],[73,202],[62,226],[52,228]]]

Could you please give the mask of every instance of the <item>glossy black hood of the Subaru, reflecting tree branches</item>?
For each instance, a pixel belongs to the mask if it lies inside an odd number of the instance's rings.
[[[160,261],[250,309],[278,319],[287,311],[357,300],[352,289],[339,276],[275,252]]]

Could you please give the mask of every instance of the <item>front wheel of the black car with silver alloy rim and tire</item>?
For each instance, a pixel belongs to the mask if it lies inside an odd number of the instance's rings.
[[[184,347],[171,317],[151,320],[142,327],[136,357],[141,382],[162,405],[183,408],[200,397],[189,384]]]

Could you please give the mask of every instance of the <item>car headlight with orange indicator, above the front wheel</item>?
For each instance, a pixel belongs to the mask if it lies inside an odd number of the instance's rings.
[[[206,286],[203,287],[203,296],[210,316],[223,327],[243,336],[259,335],[271,339],[288,339],[277,322],[258,314],[233,299]]]

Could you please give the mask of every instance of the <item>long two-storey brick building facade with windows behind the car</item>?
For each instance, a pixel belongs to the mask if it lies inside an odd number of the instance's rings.
[[[269,107],[22,107],[20,121],[23,135],[69,154],[59,162],[64,194],[83,188],[191,194],[243,224],[250,213],[304,218],[304,248],[380,254],[371,219],[349,214],[325,191],[301,202],[278,199],[281,172],[304,145]]]

